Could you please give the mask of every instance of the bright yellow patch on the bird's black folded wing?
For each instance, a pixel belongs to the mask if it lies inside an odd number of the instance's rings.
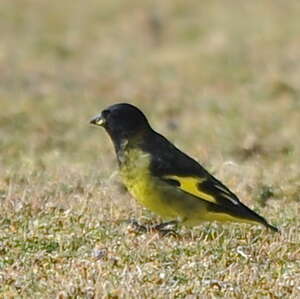
[[[164,178],[177,181],[180,184],[178,188],[182,189],[187,193],[193,194],[201,199],[210,201],[212,203],[218,203],[212,195],[202,192],[199,189],[199,185],[203,181],[205,181],[205,179],[200,179],[196,177],[179,177],[177,175],[167,175],[164,176]]]

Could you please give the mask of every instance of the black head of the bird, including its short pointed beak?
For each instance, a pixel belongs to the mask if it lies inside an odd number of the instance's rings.
[[[143,112],[126,103],[104,109],[90,123],[104,127],[114,143],[120,143],[150,128]]]

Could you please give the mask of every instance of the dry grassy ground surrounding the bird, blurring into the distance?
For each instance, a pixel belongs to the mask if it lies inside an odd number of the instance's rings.
[[[299,298],[298,1],[0,3],[0,297]],[[119,101],[281,229],[178,237],[88,120]]]

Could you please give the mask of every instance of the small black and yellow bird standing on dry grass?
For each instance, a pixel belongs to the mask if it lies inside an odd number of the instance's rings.
[[[196,226],[219,221],[260,224],[278,231],[200,163],[153,130],[136,106],[113,104],[90,123],[103,127],[110,136],[129,193],[167,221],[159,228],[170,223]]]

